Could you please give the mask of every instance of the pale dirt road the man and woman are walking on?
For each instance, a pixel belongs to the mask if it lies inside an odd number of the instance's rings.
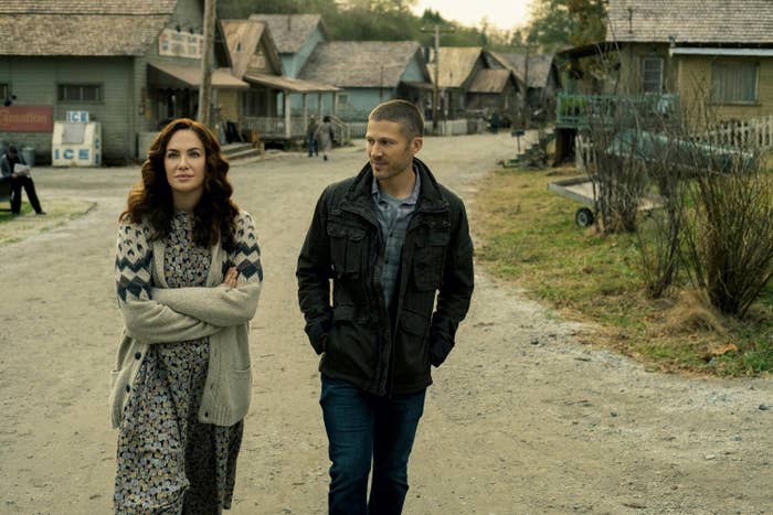
[[[430,138],[420,157],[466,200],[475,230],[476,180],[513,153],[502,133]],[[321,189],[362,163],[359,146],[329,162],[287,154],[233,168],[236,201],[257,221],[266,278],[234,514],[326,511],[317,358],[294,269]],[[97,205],[0,246],[0,513],[110,511],[115,229],[137,178],[138,168],[39,169],[43,200]],[[478,267],[472,311],[430,388],[406,514],[773,511],[771,380],[647,373],[580,345],[582,330]]]

